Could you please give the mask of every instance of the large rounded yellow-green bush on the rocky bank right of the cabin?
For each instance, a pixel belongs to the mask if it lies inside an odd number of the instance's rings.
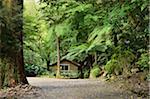
[[[108,72],[108,74],[119,75],[122,72],[127,74],[129,72],[131,62],[134,59],[134,54],[129,50],[116,53],[105,65],[105,70]]]

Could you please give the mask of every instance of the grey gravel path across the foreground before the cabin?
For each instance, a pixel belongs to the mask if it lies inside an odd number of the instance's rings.
[[[35,99],[141,99],[100,80],[32,77],[27,79],[31,85],[42,88],[41,95]]]

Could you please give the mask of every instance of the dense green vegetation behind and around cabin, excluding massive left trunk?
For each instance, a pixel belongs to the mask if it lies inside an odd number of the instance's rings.
[[[81,77],[102,70],[109,76],[128,75],[133,68],[148,72],[147,0],[41,0],[34,5],[36,14],[25,14],[26,64],[49,70],[59,50],[61,59],[81,64]]]

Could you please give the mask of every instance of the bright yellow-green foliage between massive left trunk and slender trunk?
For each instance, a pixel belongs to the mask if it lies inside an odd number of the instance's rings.
[[[55,43],[45,20],[40,19],[39,5],[34,1],[26,1],[24,9],[24,58],[27,64],[46,65],[50,57],[55,59]],[[31,14],[30,11],[34,14]],[[33,13],[32,12],[32,13]],[[53,43],[52,43],[53,42]],[[50,55],[50,52],[53,54]],[[52,59],[51,59],[52,60]]]

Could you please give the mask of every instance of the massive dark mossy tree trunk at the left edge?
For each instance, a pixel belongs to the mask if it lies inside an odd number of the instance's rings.
[[[1,2],[0,2],[1,3]],[[19,6],[18,6],[19,5]],[[16,84],[28,84],[24,72],[23,59],[23,0],[4,0],[2,8],[7,9],[4,15],[5,26],[1,26],[1,68],[3,70],[0,77],[1,88],[5,85],[14,86]],[[18,16],[17,20],[13,17]],[[11,27],[13,25],[13,27]],[[14,26],[15,25],[15,26]],[[11,41],[11,42],[7,42]],[[0,44],[0,45],[1,45]]]

